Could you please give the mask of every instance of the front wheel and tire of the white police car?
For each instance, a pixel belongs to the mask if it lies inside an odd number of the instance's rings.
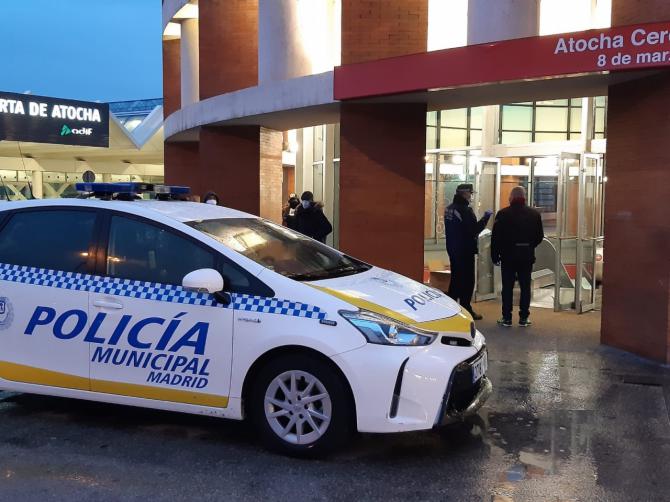
[[[259,371],[249,412],[263,444],[294,457],[320,457],[341,447],[354,423],[341,374],[306,354],[278,357]]]

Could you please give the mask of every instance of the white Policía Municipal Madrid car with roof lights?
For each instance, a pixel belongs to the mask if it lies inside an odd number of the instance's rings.
[[[79,188],[103,200],[0,207],[4,389],[248,417],[294,455],[491,392],[483,336],[437,290],[239,211]]]

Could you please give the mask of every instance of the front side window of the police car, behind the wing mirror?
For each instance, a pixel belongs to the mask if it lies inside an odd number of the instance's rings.
[[[213,253],[174,232],[112,216],[107,248],[110,277],[181,285],[186,274],[215,265]]]

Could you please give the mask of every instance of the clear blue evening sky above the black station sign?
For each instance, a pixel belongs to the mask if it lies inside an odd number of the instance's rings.
[[[161,0],[0,0],[0,92],[160,98]]]

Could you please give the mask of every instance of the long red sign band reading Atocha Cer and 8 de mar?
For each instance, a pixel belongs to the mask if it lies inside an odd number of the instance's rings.
[[[670,21],[519,38],[335,69],[337,100],[502,82],[670,68]]]

